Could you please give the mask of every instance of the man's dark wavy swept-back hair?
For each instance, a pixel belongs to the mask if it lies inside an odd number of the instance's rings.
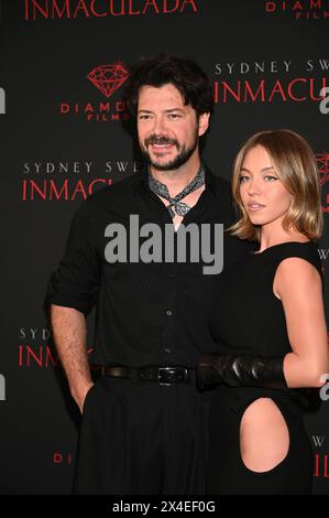
[[[202,68],[193,60],[160,54],[138,64],[127,80],[123,97],[131,115],[136,116],[142,86],[160,88],[167,84],[177,88],[185,105],[190,105],[197,116],[212,112],[213,93]]]

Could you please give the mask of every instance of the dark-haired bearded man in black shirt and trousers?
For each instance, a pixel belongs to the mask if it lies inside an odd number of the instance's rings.
[[[228,182],[200,160],[212,111],[202,69],[158,56],[134,71],[127,96],[149,166],[77,211],[46,299],[83,412],[75,492],[204,494],[208,396],[194,369],[215,353],[207,319],[221,271],[206,248],[223,251],[227,268],[248,247],[226,233],[218,249],[220,224],[234,213]],[[179,241],[188,226],[189,241]],[[187,241],[189,251],[173,256]],[[103,376],[94,385],[85,317],[95,304],[92,363]]]

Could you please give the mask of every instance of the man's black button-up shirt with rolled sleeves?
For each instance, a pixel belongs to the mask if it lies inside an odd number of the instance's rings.
[[[129,235],[130,216],[140,226],[172,224],[163,202],[150,191],[147,172],[136,173],[87,198],[76,212],[64,257],[48,282],[46,306],[74,307],[85,315],[97,304],[92,364],[184,365],[215,353],[208,315],[221,274],[205,274],[198,262],[116,262],[106,259],[109,224]],[[206,188],[184,217],[227,228],[235,220],[229,182],[206,168]],[[200,227],[199,227],[200,228]],[[224,233],[223,271],[250,251],[250,244]],[[220,315],[218,315],[220,319]]]

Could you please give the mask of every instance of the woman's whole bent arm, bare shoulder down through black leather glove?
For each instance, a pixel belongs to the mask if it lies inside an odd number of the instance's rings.
[[[202,355],[196,368],[201,390],[218,384],[283,390],[325,385],[320,377],[329,373],[329,349],[319,273],[303,259],[285,259],[277,268],[273,290],[283,303],[293,353],[277,357]]]

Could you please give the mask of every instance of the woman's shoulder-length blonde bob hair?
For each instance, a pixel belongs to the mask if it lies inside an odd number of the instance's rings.
[[[233,165],[232,192],[240,218],[229,231],[241,239],[261,238],[261,226],[252,225],[240,196],[240,172],[246,153],[262,145],[282,184],[293,195],[290,206],[283,219],[283,227],[294,229],[309,239],[318,239],[322,233],[320,181],[316,158],[309,144],[290,130],[261,131],[251,137],[240,149]]]

